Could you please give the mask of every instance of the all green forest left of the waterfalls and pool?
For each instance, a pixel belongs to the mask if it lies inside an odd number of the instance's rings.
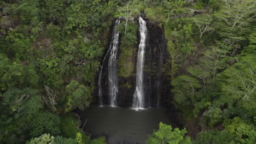
[[[117,4],[0,2],[0,143],[90,142],[68,113],[94,100]]]

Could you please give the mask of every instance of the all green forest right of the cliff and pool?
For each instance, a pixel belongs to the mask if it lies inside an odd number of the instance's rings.
[[[165,29],[170,104],[200,122],[193,143],[255,143],[255,1],[161,2],[145,13]]]

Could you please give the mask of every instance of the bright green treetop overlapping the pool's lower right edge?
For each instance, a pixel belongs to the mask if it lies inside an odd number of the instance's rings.
[[[187,130],[184,128],[179,130],[178,128],[172,129],[171,125],[164,123],[159,124],[159,130],[154,131],[146,143],[192,143],[190,137],[185,137]]]

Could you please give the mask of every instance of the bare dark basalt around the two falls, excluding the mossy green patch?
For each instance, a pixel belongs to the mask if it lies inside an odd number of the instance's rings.
[[[147,106],[158,106],[164,105],[167,98],[167,94],[170,93],[170,82],[167,81],[167,76],[164,75],[163,67],[168,59],[168,54],[166,52],[166,43],[163,29],[158,25],[158,23],[151,22],[146,18],[145,14],[141,14],[141,17],[147,22],[148,28],[148,38],[147,46],[145,52],[145,61],[144,61],[144,94],[147,101]],[[138,19],[135,19],[138,21]],[[113,21],[114,23],[114,21]],[[113,28],[112,28],[113,30]],[[120,77],[118,76],[118,106],[129,107],[132,106],[133,93],[136,88],[136,63],[137,63],[137,52],[138,44],[140,40],[140,34],[137,32],[137,46],[136,53],[133,57],[134,62],[134,71],[133,74],[129,77]],[[121,39],[121,38],[120,38]],[[119,40],[120,40],[119,39]],[[109,40],[110,41],[110,40]],[[110,42],[109,42],[110,43]],[[120,46],[120,44],[119,44]],[[120,48],[120,47],[119,47]],[[107,49],[108,50],[108,49]],[[107,53],[106,50],[106,53]],[[118,50],[118,53],[120,50]],[[104,53],[104,56],[106,55]],[[104,62],[103,73],[102,73],[102,95],[103,95],[103,104],[109,104],[109,90],[108,90],[108,58]],[[118,59],[119,57],[118,54]],[[118,60],[117,59],[117,60]],[[102,59],[103,60],[103,59]],[[96,88],[98,91],[98,88]],[[98,92],[95,92],[95,98],[98,98]],[[159,102],[158,99],[160,98]]]

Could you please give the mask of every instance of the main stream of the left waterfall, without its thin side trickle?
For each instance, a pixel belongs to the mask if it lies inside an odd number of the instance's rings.
[[[117,105],[117,93],[118,93],[118,78],[117,78],[117,51],[119,32],[115,31],[115,28],[119,25],[120,20],[115,21],[114,37],[110,46],[112,46],[109,60],[108,60],[108,80],[109,80],[109,96],[110,105]]]

